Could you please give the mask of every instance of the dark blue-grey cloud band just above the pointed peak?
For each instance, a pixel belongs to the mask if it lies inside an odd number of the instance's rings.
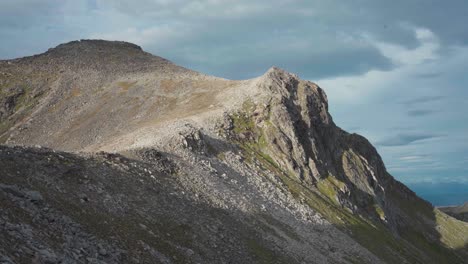
[[[217,53],[216,49],[217,47],[213,47],[211,52]],[[229,79],[257,77],[271,66],[283,68],[311,80],[362,74],[371,69],[389,70],[393,67],[388,58],[383,57],[374,48],[343,47],[342,50],[323,54],[304,50],[291,50],[285,53],[282,49],[282,44],[273,45],[262,51],[257,50],[255,46],[246,47],[243,54],[230,54],[235,56],[230,63],[220,63],[221,61],[215,58],[212,60],[201,58],[200,60],[204,62],[193,61],[184,59],[189,57],[189,54],[180,54],[171,50],[161,52],[167,53],[171,60],[183,66]]]

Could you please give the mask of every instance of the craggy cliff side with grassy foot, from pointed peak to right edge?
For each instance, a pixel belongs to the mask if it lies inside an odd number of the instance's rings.
[[[295,195],[307,200],[302,197],[303,190],[315,191],[337,210],[364,217],[377,229],[382,228],[382,233],[402,239],[404,247],[411,251],[408,255],[418,255],[418,251],[426,254],[413,256],[416,259],[443,262],[444,257],[438,254],[445,247],[464,247],[468,239],[466,225],[446,223],[440,211],[386,171],[369,141],[337,127],[320,87],[272,68],[262,76],[259,88],[271,96],[246,101],[241,110],[224,119],[220,134],[240,145],[244,155],[253,155],[281,175]],[[311,206],[325,211],[317,201],[312,201]],[[336,223],[353,225],[355,219],[343,218]],[[442,223],[465,231],[452,235],[436,231],[448,228]],[[440,247],[440,241],[444,246]],[[427,248],[433,247],[439,247],[440,252],[432,255]]]

